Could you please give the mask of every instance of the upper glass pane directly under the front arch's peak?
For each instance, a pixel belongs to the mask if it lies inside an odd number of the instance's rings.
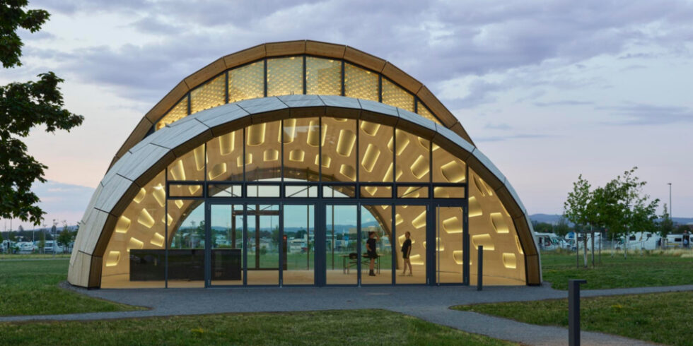
[[[318,181],[319,145],[320,119],[285,119],[284,179]],[[322,166],[329,168],[330,165],[331,157],[323,155]]]

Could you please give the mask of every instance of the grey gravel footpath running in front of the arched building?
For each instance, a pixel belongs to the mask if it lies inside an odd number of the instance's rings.
[[[65,284],[66,285],[66,284]],[[8,321],[91,321],[111,318],[221,314],[262,311],[316,311],[386,309],[416,316],[470,333],[530,345],[567,344],[566,328],[535,326],[506,318],[448,309],[453,305],[492,302],[522,302],[566,298],[566,291],[542,287],[276,287],[233,289],[141,289],[83,290],[66,285],[89,297],[122,304],[148,306],[145,311],[98,312],[48,316],[6,316]],[[639,287],[615,290],[586,290],[582,297],[693,290],[693,285]],[[639,340],[602,333],[582,332],[583,345],[648,345]]]

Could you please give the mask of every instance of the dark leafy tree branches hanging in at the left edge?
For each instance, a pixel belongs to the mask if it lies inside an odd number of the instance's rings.
[[[25,10],[27,0],[0,0],[0,61],[4,68],[21,66],[23,42],[17,30],[37,32],[50,14]],[[45,212],[31,191],[34,181],[45,182],[47,168],[28,155],[21,141],[35,126],[47,132],[69,131],[82,124],[83,117],[63,109],[58,87],[64,80],[52,72],[40,73],[39,80],[0,86],[0,217],[18,218],[39,225]]]

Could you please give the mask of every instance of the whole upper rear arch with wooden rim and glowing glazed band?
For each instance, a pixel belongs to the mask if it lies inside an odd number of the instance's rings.
[[[112,164],[152,130],[189,114],[240,100],[292,94],[380,101],[416,112],[474,143],[426,85],[389,61],[342,44],[301,40],[260,44],[192,73],[147,112]]]

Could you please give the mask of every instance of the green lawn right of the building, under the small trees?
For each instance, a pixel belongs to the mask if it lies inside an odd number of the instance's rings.
[[[583,265],[582,254],[580,257]],[[595,263],[596,263],[595,256]],[[569,279],[586,279],[582,290],[619,287],[689,285],[693,282],[693,258],[649,253],[611,256],[602,253],[602,264],[576,268],[575,253],[542,253],[544,281],[557,290],[568,290]]]

